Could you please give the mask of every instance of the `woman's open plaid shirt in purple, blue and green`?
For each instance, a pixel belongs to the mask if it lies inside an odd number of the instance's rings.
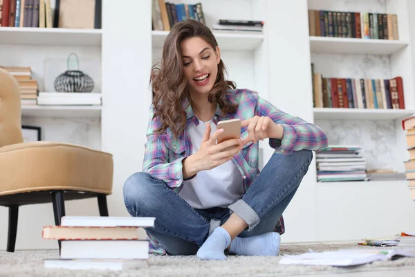
[[[269,139],[269,145],[275,152],[291,154],[294,151],[308,149],[321,150],[326,148],[328,141],[326,134],[312,123],[308,123],[299,117],[286,114],[274,107],[270,102],[258,96],[255,91],[248,89],[234,89],[228,93],[228,100],[237,103],[238,108],[234,114],[221,116],[219,105],[213,118],[214,124],[220,120],[239,118],[245,120],[254,116],[269,116],[276,124],[282,125],[284,136],[280,139]],[[183,180],[183,164],[185,157],[192,154],[192,143],[188,128],[190,124],[199,125],[199,120],[194,116],[188,100],[183,101],[187,124],[183,134],[174,139],[171,129],[163,134],[156,134],[154,129],[160,126],[160,120],[153,118],[154,110],[151,106],[149,125],[147,128],[147,143],[145,143],[145,157],[142,171],[154,175],[165,181],[165,184],[178,193],[187,181]],[[242,127],[241,138],[248,136],[247,127]],[[248,143],[239,154],[232,159],[243,177],[243,188],[246,191],[255,177],[259,174],[258,168],[258,143]],[[279,218],[275,231],[282,234],[285,231],[284,219]],[[147,233],[147,235],[149,235]],[[165,254],[165,249],[160,247],[156,239],[149,235],[150,253]]]

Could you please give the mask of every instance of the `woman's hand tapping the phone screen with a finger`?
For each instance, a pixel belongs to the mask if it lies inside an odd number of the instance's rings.
[[[241,127],[248,126],[248,136],[241,141],[246,145],[250,141],[257,143],[264,139],[282,139],[284,129],[281,125],[275,124],[268,116],[254,116],[241,122]]]

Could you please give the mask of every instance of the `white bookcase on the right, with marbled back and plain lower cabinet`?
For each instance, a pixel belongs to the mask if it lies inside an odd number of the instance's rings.
[[[412,1],[308,0],[307,8],[398,15],[399,40],[312,36],[309,51],[315,73],[325,78],[403,78],[405,109],[313,108],[314,123],[324,129],[329,144],[360,145],[369,170],[403,172],[407,152],[401,120],[415,111]],[[361,240],[414,229],[415,202],[407,185],[316,182],[316,240]]]

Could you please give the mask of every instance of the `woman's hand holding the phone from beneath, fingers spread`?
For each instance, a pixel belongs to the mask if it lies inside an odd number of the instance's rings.
[[[212,128],[206,123],[205,134],[203,135],[199,151],[187,157],[183,162],[186,177],[195,175],[201,170],[210,170],[230,161],[234,155],[242,149],[241,139],[230,139],[216,144],[216,139],[223,129],[218,129],[210,136]]]

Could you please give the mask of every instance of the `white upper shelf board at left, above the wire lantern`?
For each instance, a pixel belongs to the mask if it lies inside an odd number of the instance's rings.
[[[101,29],[0,27],[0,44],[101,46]]]

